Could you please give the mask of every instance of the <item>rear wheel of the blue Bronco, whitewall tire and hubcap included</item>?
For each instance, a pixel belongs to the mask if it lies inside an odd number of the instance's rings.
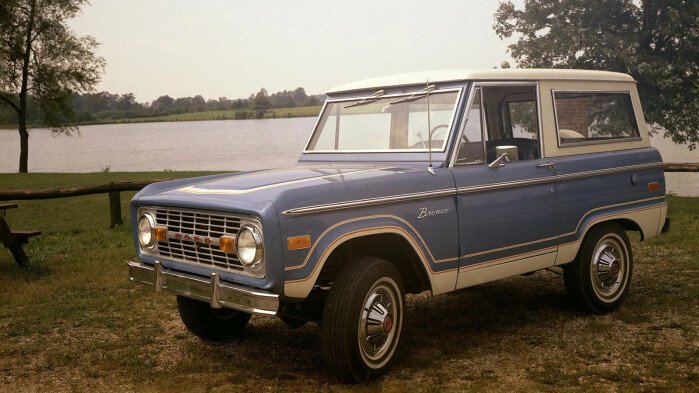
[[[629,293],[633,253],[626,232],[616,223],[592,228],[575,260],[563,266],[566,292],[584,310],[605,314]]]

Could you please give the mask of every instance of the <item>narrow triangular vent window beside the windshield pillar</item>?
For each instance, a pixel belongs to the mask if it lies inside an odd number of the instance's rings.
[[[481,105],[481,88],[473,91],[471,107],[466,114],[463,133],[459,140],[459,150],[455,165],[482,164],[483,160],[483,114]]]

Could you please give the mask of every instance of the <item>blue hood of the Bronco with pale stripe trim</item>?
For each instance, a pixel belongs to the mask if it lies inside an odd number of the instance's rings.
[[[134,199],[141,205],[241,212],[252,212],[255,205],[271,201],[281,212],[309,205],[453,186],[448,170],[438,170],[437,176],[433,176],[424,164],[326,164],[156,183],[143,189]]]

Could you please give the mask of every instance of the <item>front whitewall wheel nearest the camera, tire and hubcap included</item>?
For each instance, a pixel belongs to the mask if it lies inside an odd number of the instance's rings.
[[[394,358],[403,326],[403,282],[395,266],[360,258],[341,269],[323,309],[321,343],[343,381],[367,381]]]

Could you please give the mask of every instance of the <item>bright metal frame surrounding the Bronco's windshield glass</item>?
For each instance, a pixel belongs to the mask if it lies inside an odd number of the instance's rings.
[[[416,90],[410,90],[406,92],[400,92],[400,93],[394,93],[394,94],[385,94],[377,97],[378,99],[386,99],[386,98],[405,98],[410,95],[420,93],[420,87],[418,86]],[[452,136],[452,129],[454,127],[454,122],[456,120],[456,116],[459,112],[459,104],[461,102],[461,96],[463,95],[463,87],[457,86],[457,87],[445,87],[445,88],[436,88],[435,90],[431,91],[429,94],[434,95],[434,94],[440,94],[440,93],[457,93],[456,94],[456,99],[454,100],[454,107],[452,108],[451,116],[449,117],[449,123],[447,127],[447,133],[444,135],[444,142],[441,146],[441,148],[421,148],[421,149],[364,149],[364,150],[309,150],[309,146],[311,144],[311,141],[313,140],[313,137],[316,135],[317,132],[320,132],[318,127],[320,126],[320,121],[323,119],[323,116],[325,116],[326,111],[328,110],[329,104],[334,104],[334,103],[340,103],[340,102],[358,102],[363,99],[373,99],[375,97],[372,97],[372,94],[375,94],[375,90],[369,89],[366,91],[362,92],[362,95],[360,96],[354,96],[354,97],[343,97],[343,98],[328,98],[325,100],[323,103],[323,107],[318,114],[318,117],[316,118],[315,124],[313,126],[313,130],[311,131],[310,135],[308,136],[308,140],[306,141],[306,144],[304,145],[303,148],[303,154],[385,154],[385,153],[428,153],[429,151],[432,151],[433,153],[444,153],[447,151],[449,147],[449,139]]]

